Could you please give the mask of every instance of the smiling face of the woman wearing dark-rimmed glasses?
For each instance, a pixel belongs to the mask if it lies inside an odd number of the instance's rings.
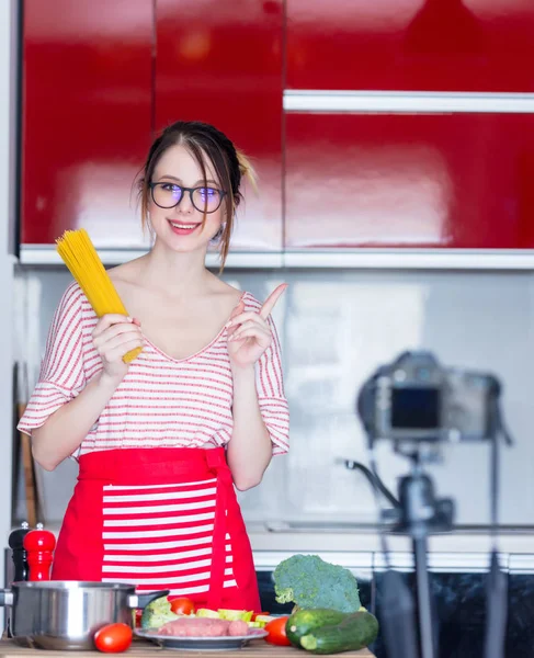
[[[205,249],[220,228],[225,212],[223,189],[206,157],[204,166],[207,180],[191,152],[177,145],[164,151],[154,170],[155,186],[148,204],[150,224],[157,239],[173,251]],[[195,191],[190,193],[182,188]],[[204,208],[208,212],[202,226]],[[217,209],[209,212],[214,208]]]

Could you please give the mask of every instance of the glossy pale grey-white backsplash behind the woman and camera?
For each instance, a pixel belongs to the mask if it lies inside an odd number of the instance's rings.
[[[232,271],[225,279],[260,299],[277,283],[289,283],[274,318],[285,362],[292,449],[273,460],[260,487],[240,495],[249,522],[373,521],[376,510],[366,480],[336,460],[366,463],[354,413],[366,377],[406,349],[427,349],[444,365],[488,370],[501,379],[504,417],[515,439],[513,447],[502,449],[501,522],[534,524],[533,275],[276,270]],[[70,281],[58,270],[18,274],[15,340],[18,352],[33,362],[34,377],[55,306]],[[384,444],[378,464],[385,483],[396,489],[408,463]],[[458,523],[488,522],[488,446],[455,445],[429,468],[439,496],[455,499]],[[63,517],[76,470],[75,463],[66,462],[42,474],[47,522]],[[24,515],[23,504],[19,512]]]

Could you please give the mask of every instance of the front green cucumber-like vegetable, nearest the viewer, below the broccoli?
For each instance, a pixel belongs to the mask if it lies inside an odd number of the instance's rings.
[[[300,646],[311,654],[357,651],[372,644],[378,635],[378,621],[366,611],[345,615],[339,624],[321,626],[300,637]]]

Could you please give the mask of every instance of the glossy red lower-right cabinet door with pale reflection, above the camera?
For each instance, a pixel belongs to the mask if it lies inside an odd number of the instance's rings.
[[[288,249],[534,248],[534,114],[288,114]]]

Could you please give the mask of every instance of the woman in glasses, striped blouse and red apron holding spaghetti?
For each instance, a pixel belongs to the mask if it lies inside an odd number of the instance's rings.
[[[94,315],[71,284],[19,428],[47,470],[79,462],[58,537],[56,580],[133,582],[197,605],[259,610],[235,487],[287,451],[288,408],[270,313],[206,270],[228,252],[251,170],[211,125],[178,122],[140,179],[146,256],[110,274],[130,317]],[[143,351],[129,366],[123,355]]]

